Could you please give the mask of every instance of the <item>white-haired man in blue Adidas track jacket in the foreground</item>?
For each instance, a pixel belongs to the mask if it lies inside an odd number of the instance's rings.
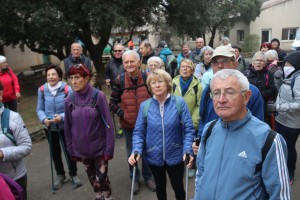
[[[220,119],[204,129],[194,199],[290,199],[285,141],[247,109],[247,78],[224,69],[210,87]]]

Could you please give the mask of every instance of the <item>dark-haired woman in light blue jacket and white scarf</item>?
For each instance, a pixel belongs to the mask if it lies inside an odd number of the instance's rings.
[[[61,158],[60,137],[66,146],[64,136],[64,103],[65,98],[70,93],[71,87],[62,82],[62,70],[60,67],[50,65],[45,70],[47,82],[38,89],[38,102],[36,112],[40,122],[45,127],[48,142],[51,145],[52,158],[56,170],[57,178],[53,189],[59,189],[67,177],[65,176],[64,165]],[[50,130],[50,132],[48,131]],[[51,137],[51,138],[50,138]],[[67,155],[69,165],[69,175],[74,187],[82,185],[77,176],[76,162]]]

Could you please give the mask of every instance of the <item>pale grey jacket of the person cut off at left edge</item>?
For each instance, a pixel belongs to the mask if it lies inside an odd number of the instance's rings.
[[[2,106],[0,115],[3,110]],[[4,154],[3,160],[0,160],[0,172],[18,180],[27,173],[23,158],[30,154],[32,143],[28,130],[18,113],[10,111],[9,128],[17,144],[14,145],[4,134],[0,134],[0,151]]]

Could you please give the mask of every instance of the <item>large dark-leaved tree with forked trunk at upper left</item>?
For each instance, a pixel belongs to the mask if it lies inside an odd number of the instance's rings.
[[[151,22],[159,0],[2,0],[2,45],[26,44],[32,51],[64,59],[71,44],[80,39],[97,71],[111,29],[134,30]],[[92,37],[99,39],[93,43]]]

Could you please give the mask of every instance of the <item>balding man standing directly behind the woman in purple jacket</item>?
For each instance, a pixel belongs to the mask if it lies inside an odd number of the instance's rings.
[[[64,74],[63,79],[65,81],[68,80],[67,78],[68,78],[68,71],[69,71],[70,66],[76,65],[76,64],[84,64],[85,66],[87,66],[87,68],[89,69],[90,74],[91,74],[90,84],[95,87],[96,80],[97,80],[97,72],[96,72],[94,63],[90,58],[83,55],[81,44],[74,42],[71,45],[70,55],[60,63],[60,68]]]

